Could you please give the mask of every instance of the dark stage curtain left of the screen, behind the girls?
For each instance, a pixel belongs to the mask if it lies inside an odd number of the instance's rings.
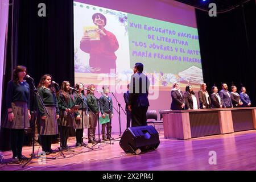
[[[39,3],[46,4],[46,17],[38,16]],[[7,53],[9,56],[7,57],[3,90],[6,90],[6,82],[11,79],[11,70],[16,65],[27,67],[28,75],[35,79],[36,86],[44,74],[52,75],[53,80],[59,84],[63,80],[69,80],[73,85],[73,1],[13,0],[13,6],[13,35],[9,36],[8,41]],[[10,9],[10,15],[11,11]],[[11,18],[9,25],[11,26]],[[13,51],[10,48],[12,41]],[[13,55],[13,65],[10,55]],[[31,106],[33,105],[31,104]],[[2,119],[5,113],[4,92]],[[9,148],[7,146],[8,137],[8,131],[1,129],[0,150]]]

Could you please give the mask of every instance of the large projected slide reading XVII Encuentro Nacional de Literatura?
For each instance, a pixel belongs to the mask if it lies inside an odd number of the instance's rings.
[[[74,2],[74,33],[76,82],[127,85],[137,62],[160,90],[203,82],[197,28]]]

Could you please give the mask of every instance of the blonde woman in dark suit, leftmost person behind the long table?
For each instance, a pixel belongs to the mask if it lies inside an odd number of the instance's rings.
[[[172,84],[171,97],[171,110],[181,110],[185,108],[184,95],[180,90],[180,86],[177,81],[175,81],[174,84]]]

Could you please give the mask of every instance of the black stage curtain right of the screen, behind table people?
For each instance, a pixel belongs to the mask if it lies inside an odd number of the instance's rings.
[[[221,83],[246,87],[256,106],[256,9],[255,1],[210,17],[196,10],[204,81],[208,91]]]

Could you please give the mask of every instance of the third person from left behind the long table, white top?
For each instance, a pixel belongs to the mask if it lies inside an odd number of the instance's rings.
[[[198,92],[200,109],[210,109],[212,103],[210,102],[210,96],[207,92],[207,84],[203,83],[200,86],[200,90]]]

